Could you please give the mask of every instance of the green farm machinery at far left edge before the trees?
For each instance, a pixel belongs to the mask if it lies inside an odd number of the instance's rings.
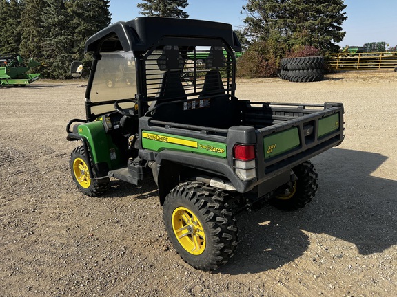
[[[25,87],[35,80],[38,80],[41,74],[27,74],[32,67],[41,65],[41,63],[29,59],[28,63],[19,54],[0,54],[0,86],[13,85],[14,87]]]

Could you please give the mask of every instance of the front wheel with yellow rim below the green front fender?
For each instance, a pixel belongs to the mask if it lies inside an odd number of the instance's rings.
[[[70,154],[70,170],[74,183],[83,194],[96,197],[107,190],[110,179],[95,179],[90,176],[88,166],[92,166],[90,157],[86,155],[84,147],[74,148]],[[94,173],[95,175],[95,173]]]

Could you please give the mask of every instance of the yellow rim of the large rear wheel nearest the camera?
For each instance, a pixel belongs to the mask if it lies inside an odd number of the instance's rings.
[[[172,229],[176,239],[190,254],[199,255],[205,250],[203,225],[187,208],[179,207],[172,213]]]

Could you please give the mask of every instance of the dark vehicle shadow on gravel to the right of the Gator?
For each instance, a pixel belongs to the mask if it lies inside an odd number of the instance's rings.
[[[239,215],[236,253],[216,272],[247,274],[275,269],[298,259],[309,245],[314,246],[315,254],[317,250],[336,258],[343,258],[349,250],[348,244],[340,241],[333,241],[328,248],[330,239],[318,239],[316,234],[352,243],[350,254],[354,250],[360,255],[380,253],[396,245],[397,181],[370,176],[386,160],[377,153],[340,148],[314,158],[319,176],[314,201],[295,212],[267,207]]]

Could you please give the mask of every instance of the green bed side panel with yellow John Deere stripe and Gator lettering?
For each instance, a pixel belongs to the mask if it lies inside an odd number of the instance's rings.
[[[213,157],[225,158],[227,156],[226,144],[221,142],[211,142],[151,131],[142,131],[141,137],[143,148],[151,151],[160,152],[165,149],[170,149],[173,151],[211,155]]]

